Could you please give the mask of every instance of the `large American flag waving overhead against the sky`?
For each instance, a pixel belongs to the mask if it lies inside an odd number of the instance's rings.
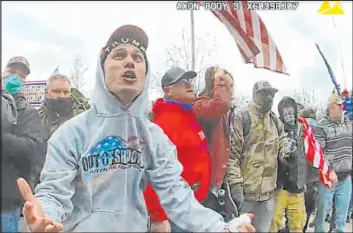
[[[247,9],[246,1],[237,2],[239,10],[234,9],[234,1],[228,1],[227,10],[212,10],[212,13],[233,36],[244,62],[288,75],[278,48],[260,16],[256,11]],[[199,3],[202,6],[204,1]]]

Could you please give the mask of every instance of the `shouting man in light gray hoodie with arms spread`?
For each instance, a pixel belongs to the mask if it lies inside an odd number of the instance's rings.
[[[183,229],[255,231],[250,224],[225,223],[198,203],[181,178],[175,146],[148,119],[147,46],[136,26],[114,31],[98,59],[93,104],[49,139],[35,196],[18,180],[31,232],[147,232],[148,181],[168,217]]]

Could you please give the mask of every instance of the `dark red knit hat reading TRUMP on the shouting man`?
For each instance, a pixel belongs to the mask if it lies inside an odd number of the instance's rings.
[[[146,50],[148,47],[148,37],[146,33],[135,25],[123,25],[117,28],[109,37],[107,43],[102,49],[101,61],[102,66],[108,54],[119,44],[135,45],[143,54],[146,61],[146,72],[148,71],[148,63]]]

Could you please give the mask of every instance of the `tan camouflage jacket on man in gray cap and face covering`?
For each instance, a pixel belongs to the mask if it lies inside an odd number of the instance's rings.
[[[245,200],[264,201],[274,197],[278,156],[284,153],[282,122],[266,114],[260,118],[256,106],[249,110],[251,127],[244,137],[243,119],[234,115],[227,177],[232,188],[243,187]]]

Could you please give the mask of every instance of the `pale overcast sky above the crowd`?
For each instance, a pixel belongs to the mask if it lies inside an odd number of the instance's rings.
[[[168,68],[166,51],[183,47],[182,31],[190,38],[190,12],[177,11],[176,3],[2,2],[2,70],[12,56],[25,56],[32,70],[28,80],[46,80],[58,65],[60,73],[69,75],[74,56],[80,55],[88,68],[84,92],[90,95],[100,49],[116,28],[135,24],[149,37],[150,67],[160,78]],[[195,11],[195,41],[201,51],[196,70],[205,58],[202,67],[218,65],[232,72],[236,93],[251,95],[256,81],[268,80],[280,90],[277,103],[301,88],[315,89],[320,101],[325,101],[333,85],[315,43],[341,86],[352,87],[352,2],[341,4],[344,15],[318,14],[321,2],[300,2],[296,11],[258,12],[290,76],[245,65],[225,26],[211,12]],[[152,98],[156,97],[153,93]]]

